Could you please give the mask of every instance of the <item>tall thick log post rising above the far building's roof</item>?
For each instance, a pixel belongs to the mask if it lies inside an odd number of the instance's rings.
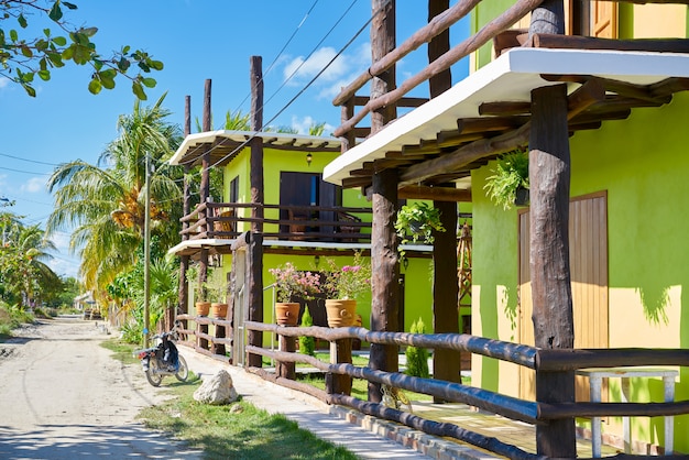
[[[261,56],[251,56],[251,130],[263,129],[263,72]],[[249,320],[263,321],[263,140],[254,136],[250,142],[251,241],[249,243]],[[263,332],[249,331],[249,344],[261,347]],[[249,354],[250,366],[261,366],[261,355]]]

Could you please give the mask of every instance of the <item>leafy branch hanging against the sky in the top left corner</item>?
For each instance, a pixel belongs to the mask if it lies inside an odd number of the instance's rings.
[[[75,3],[62,0],[0,0],[0,20],[14,19],[19,25],[19,30],[0,29],[0,76],[21,85],[29,96],[35,97],[33,81],[36,75],[47,81],[54,68],[72,62],[90,66],[88,90],[91,94],[97,95],[102,88],[113,89],[116,77],[121,75],[131,80],[132,92],[145,100],[144,87],[153,88],[156,81],[143,74],[162,70],[163,63],[142,50],[132,51],[130,46],[122,46],[110,56],[100,55],[92,41],[98,29],[69,24],[62,7],[77,9]],[[43,34],[25,36],[30,25],[36,30],[43,28]],[[44,25],[57,28],[58,33],[53,34],[51,28]],[[132,66],[138,69],[135,75],[128,74]]]

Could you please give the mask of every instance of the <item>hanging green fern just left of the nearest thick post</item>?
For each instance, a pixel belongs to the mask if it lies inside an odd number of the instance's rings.
[[[516,149],[497,157],[494,174],[485,179],[483,188],[503,209],[528,205],[528,152]]]

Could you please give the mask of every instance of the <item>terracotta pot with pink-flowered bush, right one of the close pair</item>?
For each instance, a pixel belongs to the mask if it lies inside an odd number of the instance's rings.
[[[371,288],[371,265],[361,253],[354,254],[352,265],[341,269],[328,260],[330,271],[322,285],[326,299],[328,326],[332,328],[352,326],[357,314],[357,297]]]

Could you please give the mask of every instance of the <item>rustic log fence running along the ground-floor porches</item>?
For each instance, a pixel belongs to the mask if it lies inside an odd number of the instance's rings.
[[[225,349],[219,354],[218,346],[229,344],[225,337],[230,321],[206,317],[179,315],[178,319],[193,320],[196,330],[183,328],[181,333],[196,336],[196,341],[186,341],[197,352],[230,362]],[[215,335],[208,333],[208,325],[215,325]],[[228,328],[228,329],[226,329]],[[468,404],[493,414],[532,425],[547,425],[551,420],[571,417],[602,416],[675,416],[689,414],[689,401],[671,403],[544,403],[503,395],[489,390],[467,386],[459,383],[409,376],[400,372],[384,372],[368,366],[357,366],[351,360],[351,340],[391,346],[413,346],[427,349],[464,351],[515,363],[536,371],[538,375],[573,375],[579,369],[616,368],[638,365],[689,366],[689,350],[683,349],[573,349],[543,350],[535,347],[491,340],[482,337],[458,333],[417,335],[407,332],[374,332],[359,327],[285,327],[263,322],[247,321],[247,330],[275,333],[280,350],[247,346],[248,354],[256,354],[276,361],[275,372],[260,368],[247,368],[248,372],[261,375],[282,386],[307,393],[328,404],[354,408],[363,414],[384,418],[426,434],[451,437],[511,459],[542,459],[544,457],[526,452],[515,446],[478,432],[463,429],[455,424],[429,420],[417,415],[387,407],[383,404],[361,401],[350,396],[351,379],[363,379],[390,387],[431,395],[445,401]],[[220,335],[220,336],[219,336]],[[231,333],[229,335],[231,337]],[[314,337],[330,342],[331,362],[295,352],[297,337]],[[332,359],[335,355],[335,360]],[[297,382],[295,363],[311,365],[326,373],[326,390]],[[573,376],[571,377],[573,379]],[[617,454],[614,458],[638,458]],[[678,457],[679,458],[679,457]],[[686,456],[683,456],[686,458]]]

